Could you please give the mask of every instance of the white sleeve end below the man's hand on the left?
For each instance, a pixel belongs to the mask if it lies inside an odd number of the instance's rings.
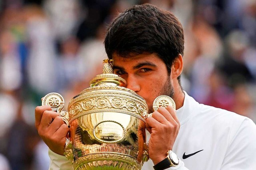
[[[50,149],[48,149],[48,154],[50,157],[49,170],[73,170],[73,164],[66,156],[56,154]]]

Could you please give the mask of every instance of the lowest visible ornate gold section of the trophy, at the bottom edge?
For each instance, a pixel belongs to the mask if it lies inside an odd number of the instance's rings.
[[[74,170],[140,170],[133,157],[113,152],[88,154],[74,162]]]

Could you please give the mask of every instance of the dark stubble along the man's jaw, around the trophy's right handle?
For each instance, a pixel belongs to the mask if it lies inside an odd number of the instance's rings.
[[[160,90],[158,96],[165,95],[173,98],[174,96],[174,87],[170,81],[170,77],[168,76],[166,82],[164,83],[164,86],[162,86],[162,89]],[[157,96],[157,97],[158,97]],[[153,113],[153,106],[148,106],[148,113]]]

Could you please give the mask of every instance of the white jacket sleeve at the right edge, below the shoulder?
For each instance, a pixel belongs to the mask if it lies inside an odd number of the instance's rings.
[[[231,138],[220,170],[255,170],[255,123],[249,118],[244,119],[234,137]]]

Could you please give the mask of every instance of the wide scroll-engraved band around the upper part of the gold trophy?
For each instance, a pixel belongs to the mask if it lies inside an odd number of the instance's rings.
[[[70,101],[68,106],[68,110],[70,110],[68,111],[70,121],[82,115],[94,113],[94,111],[98,111],[97,109],[110,109],[110,111],[120,110],[122,113],[130,115],[136,114],[136,117],[145,121],[148,108],[144,100],[119,91],[99,91],[100,90],[94,93],[82,94]]]

